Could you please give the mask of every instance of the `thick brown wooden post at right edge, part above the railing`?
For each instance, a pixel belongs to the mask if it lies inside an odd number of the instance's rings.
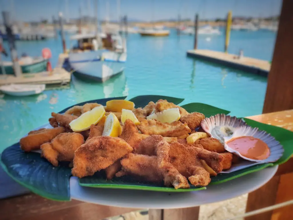
[[[293,109],[293,1],[283,0],[263,113]]]

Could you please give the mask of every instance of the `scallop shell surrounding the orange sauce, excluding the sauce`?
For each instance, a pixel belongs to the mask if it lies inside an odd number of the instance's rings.
[[[265,160],[253,160],[251,158],[246,158],[242,156],[238,151],[229,148],[226,144],[227,141],[231,140],[232,138],[237,138],[241,136],[252,136],[254,138],[258,138],[265,142],[268,147],[270,148],[270,156]],[[250,126],[241,126],[235,129],[232,136],[224,137],[225,140],[225,149],[230,153],[235,153],[242,157],[245,160],[253,161],[253,162],[262,162],[262,163],[272,163],[279,160],[284,152],[283,146],[277,141],[273,136],[265,131],[260,131],[258,128],[252,128]]]

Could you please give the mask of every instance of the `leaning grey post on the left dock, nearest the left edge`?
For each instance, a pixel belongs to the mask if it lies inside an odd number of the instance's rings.
[[[20,77],[22,75],[22,70],[21,70],[21,67],[18,63],[17,51],[16,51],[16,46],[15,46],[15,39],[14,39],[13,31],[12,31],[12,21],[10,19],[10,15],[9,15],[8,11],[2,11],[2,16],[3,16],[4,26],[6,27],[6,34],[7,34],[11,59],[13,62],[14,75],[16,77]]]

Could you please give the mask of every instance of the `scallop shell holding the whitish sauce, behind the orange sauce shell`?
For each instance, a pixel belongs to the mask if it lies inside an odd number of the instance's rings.
[[[224,144],[224,137],[229,137],[234,133],[235,128],[246,126],[242,119],[225,114],[217,114],[204,119],[201,122],[202,129],[211,137],[217,138]]]

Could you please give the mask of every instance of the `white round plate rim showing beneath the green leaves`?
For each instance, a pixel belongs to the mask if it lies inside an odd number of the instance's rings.
[[[130,189],[81,187],[77,177],[70,178],[71,199],[100,205],[141,208],[177,209],[199,206],[231,199],[263,186],[276,173],[278,165],[230,180],[207,186],[197,192],[152,192]]]

